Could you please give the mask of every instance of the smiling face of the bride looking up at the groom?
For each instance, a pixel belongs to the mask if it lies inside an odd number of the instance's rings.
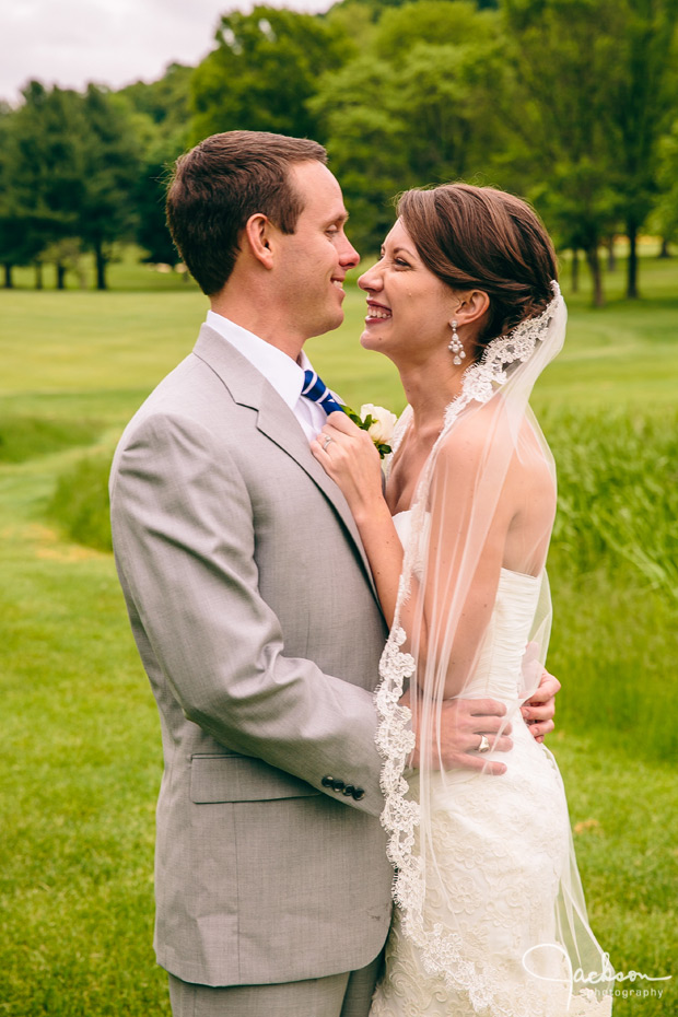
[[[396,362],[424,361],[446,349],[458,297],[423,264],[398,220],[384,241],[382,257],[358,280],[367,294],[366,350]]]

